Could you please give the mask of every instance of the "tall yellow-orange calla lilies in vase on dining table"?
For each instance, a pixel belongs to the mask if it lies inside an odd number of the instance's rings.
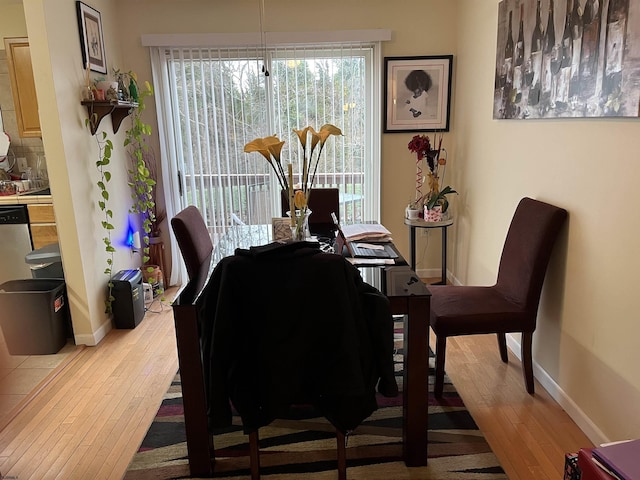
[[[296,239],[304,238],[304,223],[310,213],[308,210],[309,196],[315,181],[320,155],[327,139],[331,135],[342,135],[342,131],[335,125],[327,123],[315,131],[313,127],[305,127],[302,130],[293,130],[302,146],[302,172],[300,183],[293,183],[293,164],[287,164],[285,172],[281,154],[284,141],[272,135],[264,138],[256,138],[244,146],[246,153],[258,152],[271,165],[276,174],[280,188],[288,192],[289,210],[291,215],[291,228]]]

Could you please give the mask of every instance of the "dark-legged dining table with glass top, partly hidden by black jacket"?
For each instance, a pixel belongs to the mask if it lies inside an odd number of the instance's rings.
[[[234,225],[216,242],[209,265],[181,288],[173,302],[178,358],[182,374],[185,429],[191,474],[211,475],[215,465],[213,438],[207,431],[206,400],[198,338],[198,311],[204,290],[216,264],[237,248],[260,246],[272,241],[271,225]],[[324,251],[331,246],[322,244]],[[394,247],[395,248],[395,247]],[[397,251],[397,249],[396,249]],[[429,309],[427,286],[419,281],[399,254],[389,261],[351,260],[362,278],[389,299],[391,313],[403,319],[403,420],[402,456],[410,467],[427,465],[429,404]],[[190,372],[188,375],[186,372]]]

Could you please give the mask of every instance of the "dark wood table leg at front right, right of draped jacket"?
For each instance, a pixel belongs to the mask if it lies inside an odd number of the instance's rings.
[[[404,323],[403,456],[408,467],[427,464],[429,423],[429,296],[407,297]]]

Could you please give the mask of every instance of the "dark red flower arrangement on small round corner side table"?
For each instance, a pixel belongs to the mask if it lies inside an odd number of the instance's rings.
[[[434,136],[434,144],[436,138]],[[447,151],[442,148],[442,135],[437,140],[438,148],[434,148],[428,135],[415,135],[409,142],[410,152],[416,154],[416,198],[409,205],[416,208],[424,207],[426,210],[433,210],[440,207],[444,213],[449,208],[449,201],[446,195],[458,193],[450,186],[442,187],[444,173],[447,165]],[[422,161],[427,163],[427,186],[429,191],[422,193],[424,175],[422,172]]]

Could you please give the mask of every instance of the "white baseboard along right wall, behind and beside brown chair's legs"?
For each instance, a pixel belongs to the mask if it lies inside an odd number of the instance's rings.
[[[507,334],[507,346],[509,347],[509,350],[511,350],[511,352],[513,352],[513,354],[522,361],[522,357],[520,355],[520,342],[513,335]],[[594,445],[600,445],[601,443],[611,441],[605,437],[604,433],[602,433],[596,424],[587,417],[587,415],[576,405],[573,399],[569,397],[562,388],[560,388],[555,380],[551,378],[551,376],[540,365],[538,365],[535,360],[533,361],[533,376],[538,380],[540,385],[549,392],[549,395],[558,402],[558,405],[567,412],[569,417],[576,422],[576,425],[578,425],[580,430],[584,432]],[[524,382],[524,378],[522,381]]]

